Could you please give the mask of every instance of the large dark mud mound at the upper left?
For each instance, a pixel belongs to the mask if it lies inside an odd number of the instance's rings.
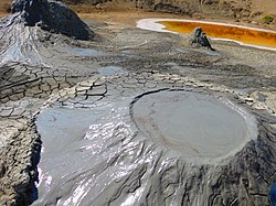
[[[28,26],[62,33],[78,40],[89,40],[93,32],[65,4],[47,0],[14,0],[11,12],[20,12],[21,21]]]

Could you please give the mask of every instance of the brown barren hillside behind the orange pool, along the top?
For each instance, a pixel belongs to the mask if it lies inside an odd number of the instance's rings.
[[[11,0],[0,1],[0,17],[6,15],[11,4]],[[216,22],[229,22],[236,24],[247,24],[252,26],[276,29],[276,2],[268,0],[176,0],[163,3],[159,1],[73,1],[63,0],[78,13],[79,17],[89,19],[100,19],[106,21],[129,21],[129,19],[141,19],[147,17],[170,17],[184,19],[204,19]],[[200,3],[199,3],[200,2]],[[179,8],[184,8],[183,12],[179,12]],[[128,18],[125,18],[125,17]],[[264,22],[265,17],[272,17],[274,20],[269,23]]]

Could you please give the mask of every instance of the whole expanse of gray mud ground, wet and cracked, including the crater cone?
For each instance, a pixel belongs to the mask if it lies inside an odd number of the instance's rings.
[[[231,43],[195,50],[185,35],[98,22],[89,22],[96,37],[85,42],[15,17],[0,23],[0,182],[10,185],[0,188],[1,203],[269,205],[276,53]],[[211,120],[197,120],[203,115]],[[144,122],[149,117],[153,123]],[[163,140],[151,135],[155,123]],[[194,141],[194,131],[184,130],[191,126],[212,132],[214,143]],[[40,156],[39,147],[23,143],[30,137],[42,141]],[[200,142],[208,158],[188,156],[172,140]],[[38,170],[23,166],[39,159]]]

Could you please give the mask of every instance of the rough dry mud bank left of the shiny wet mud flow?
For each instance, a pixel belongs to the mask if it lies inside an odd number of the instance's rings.
[[[35,193],[38,164],[41,150],[40,135],[34,121],[26,121],[0,149],[1,205],[29,205]]]

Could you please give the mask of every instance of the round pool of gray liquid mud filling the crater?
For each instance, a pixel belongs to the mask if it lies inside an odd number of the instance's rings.
[[[226,158],[257,133],[250,113],[203,93],[147,93],[134,100],[131,115],[141,132],[188,158]]]

